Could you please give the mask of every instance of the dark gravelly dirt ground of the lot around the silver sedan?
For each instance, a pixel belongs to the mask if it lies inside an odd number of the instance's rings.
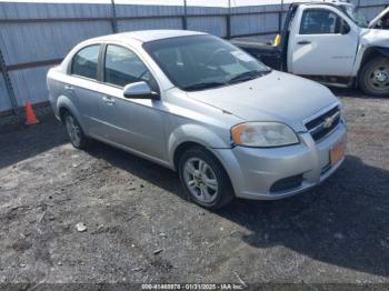
[[[337,94],[350,128],[337,174],[218,212],[186,201],[174,172],[73,149],[52,118],[2,133],[0,283],[389,283],[389,100]]]

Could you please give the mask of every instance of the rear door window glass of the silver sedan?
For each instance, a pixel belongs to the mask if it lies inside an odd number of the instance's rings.
[[[97,80],[100,44],[81,49],[73,58],[71,73]]]

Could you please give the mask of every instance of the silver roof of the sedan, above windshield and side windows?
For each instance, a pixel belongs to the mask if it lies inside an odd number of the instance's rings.
[[[205,32],[190,31],[190,30],[139,30],[131,32],[121,32],[116,34],[103,36],[92,39],[93,41],[129,41],[137,40],[139,42],[149,42],[161,39],[189,37],[189,36],[202,36]]]

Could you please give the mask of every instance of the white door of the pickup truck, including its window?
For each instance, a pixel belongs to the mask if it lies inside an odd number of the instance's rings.
[[[306,76],[351,76],[358,31],[336,8],[301,6],[289,39],[289,71]]]

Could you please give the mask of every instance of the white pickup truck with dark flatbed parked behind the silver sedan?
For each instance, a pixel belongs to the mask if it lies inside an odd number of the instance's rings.
[[[278,46],[231,42],[277,70],[389,97],[389,30],[381,23],[388,13],[369,23],[348,2],[292,3]]]

